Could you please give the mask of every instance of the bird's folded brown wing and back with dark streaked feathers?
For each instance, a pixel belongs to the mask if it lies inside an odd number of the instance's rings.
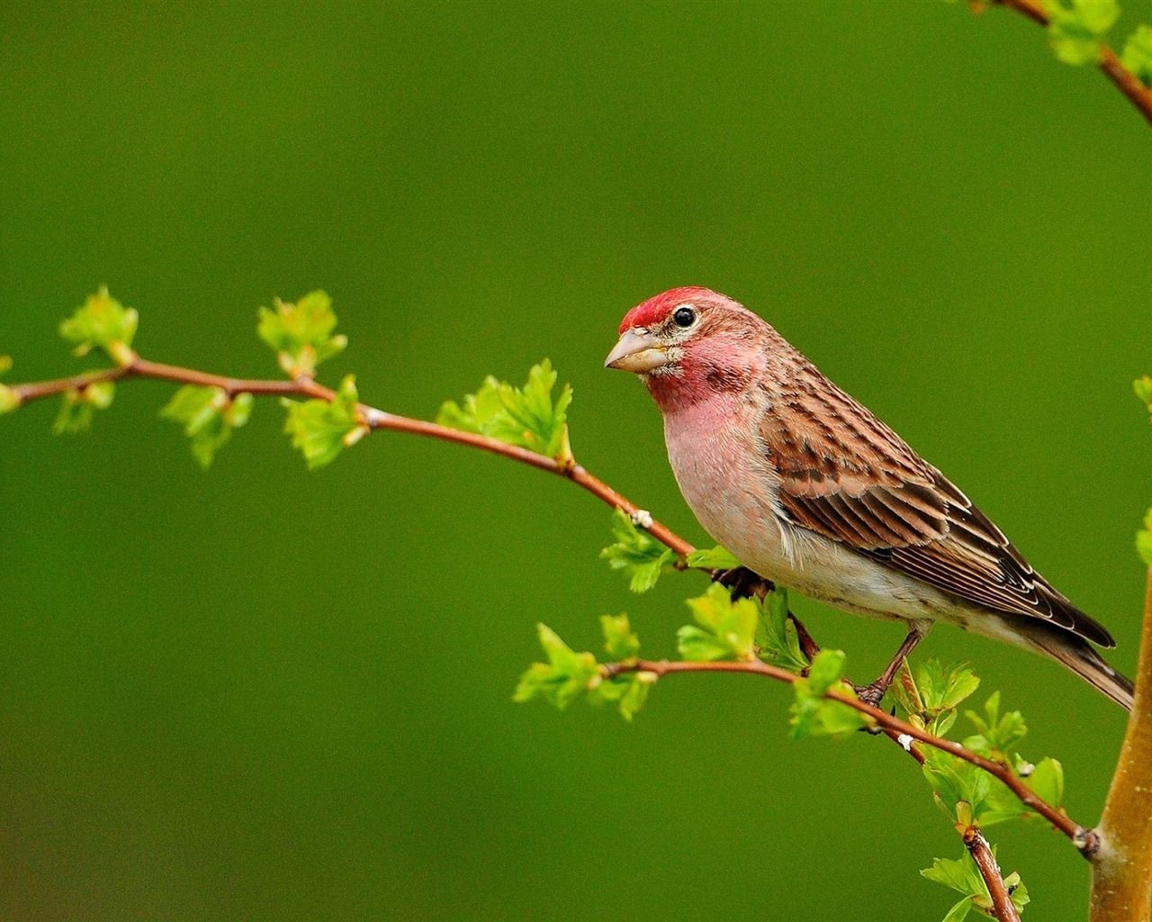
[[[940,471],[799,362],[760,429],[794,522],[982,607],[1115,645]]]

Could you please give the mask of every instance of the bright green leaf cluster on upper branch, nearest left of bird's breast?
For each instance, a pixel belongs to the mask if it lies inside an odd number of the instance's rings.
[[[462,405],[447,401],[437,422],[570,462],[568,407],[573,388],[566,384],[553,400],[555,384],[556,372],[547,358],[531,368],[523,387],[513,387],[488,376],[480,390],[468,394]]]

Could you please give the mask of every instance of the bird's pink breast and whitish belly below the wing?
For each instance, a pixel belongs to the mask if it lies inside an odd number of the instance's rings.
[[[907,621],[960,620],[927,583],[787,521],[779,478],[755,437],[732,424],[727,398],[665,416],[668,460],[700,524],[744,566],[838,609]]]

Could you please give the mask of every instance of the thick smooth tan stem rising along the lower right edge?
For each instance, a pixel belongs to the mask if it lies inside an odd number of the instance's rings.
[[[1136,673],[1136,698],[1099,825],[1092,922],[1147,922],[1152,916],[1152,568]]]

